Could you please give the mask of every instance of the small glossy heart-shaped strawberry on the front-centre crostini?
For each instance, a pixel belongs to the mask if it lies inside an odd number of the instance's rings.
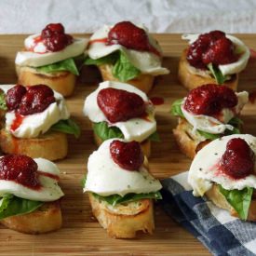
[[[144,162],[141,145],[137,141],[112,141],[110,144],[110,154],[120,168],[128,170],[139,170]]]

